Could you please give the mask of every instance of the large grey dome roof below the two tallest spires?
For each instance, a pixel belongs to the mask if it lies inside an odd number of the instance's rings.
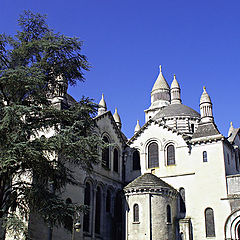
[[[153,119],[162,117],[196,117],[200,118],[200,114],[192,108],[183,104],[171,104],[160,110]]]

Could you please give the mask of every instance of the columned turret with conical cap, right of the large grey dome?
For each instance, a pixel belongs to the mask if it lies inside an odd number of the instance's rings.
[[[213,122],[212,102],[205,87],[200,99],[200,112],[201,122]]]

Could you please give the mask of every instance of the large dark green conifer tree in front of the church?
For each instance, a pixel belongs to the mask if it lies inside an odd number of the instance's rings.
[[[67,226],[74,209],[61,189],[78,184],[73,166],[91,171],[101,144],[93,135],[97,105],[84,97],[62,105],[68,85],[84,81],[90,67],[82,42],[30,11],[18,24],[16,35],[0,35],[0,218],[16,233],[29,211]]]

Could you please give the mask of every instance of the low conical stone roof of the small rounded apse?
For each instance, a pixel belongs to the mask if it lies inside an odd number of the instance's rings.
[[[129,183],[124,189],[128,188],[169,188],[174,189],[172,186],[158,178],[157,176],[153,175],[152,173],[145,173],[142,176],[136,178],[131,183]]]

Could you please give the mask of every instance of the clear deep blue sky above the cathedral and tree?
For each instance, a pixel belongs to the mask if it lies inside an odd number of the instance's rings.
[[[14,33],[27,9],[84,41],[92,69],[69,93],[97,102],[104,93],[127,137],[144,124],[159,64],[169,84],[176,74],[185,105],[199,111],[205,85],[219,130],[240,127],[239,0],[0,0],[0,32]]]

